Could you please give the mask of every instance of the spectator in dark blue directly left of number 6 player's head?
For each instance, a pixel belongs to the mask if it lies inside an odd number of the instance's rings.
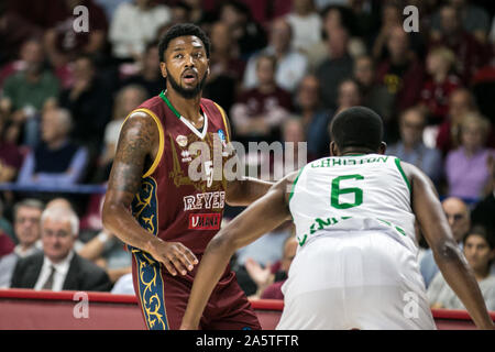
[[[330,136],[327,133],[327,125],[330,122],[331,111],[322,107],[320,81],[317,76],[307,75],[301,79],[296,94],[296,108],[308,143],[308,161],[328,156]]]

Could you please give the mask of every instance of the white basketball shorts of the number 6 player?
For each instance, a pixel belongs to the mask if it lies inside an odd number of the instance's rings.
[[[312,239],[283,293],[280,330],[436,329],[415,253],[384,233]]]

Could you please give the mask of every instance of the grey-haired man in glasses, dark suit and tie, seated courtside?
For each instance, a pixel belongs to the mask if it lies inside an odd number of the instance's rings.
[[[41,217],[43,253],[18,262],[11,287],[48,290],[110,290],[107,273],[74,252],[79,219],[70,209],[51,207]]]

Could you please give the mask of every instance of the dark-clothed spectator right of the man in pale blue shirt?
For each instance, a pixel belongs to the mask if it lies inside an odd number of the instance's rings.
[[[321,98],[328,109],[337,108],[339,85],[352,77],[353,59],[348,51],[349,34],[343,28],[337,28],[328,33],[329,56],[316,69],[320,79]]]

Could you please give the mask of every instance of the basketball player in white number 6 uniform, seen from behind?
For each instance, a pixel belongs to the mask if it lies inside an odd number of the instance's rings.
[[[290,217],[299,248],[277,329],[435,329],[417,263],[418,220],[475,324],[493,329],[430,179],[386,156],[382,119],[354,107],[331,125],[330,157],[288,175],[209,243],[183,329],[197,329],[231,255]]]

